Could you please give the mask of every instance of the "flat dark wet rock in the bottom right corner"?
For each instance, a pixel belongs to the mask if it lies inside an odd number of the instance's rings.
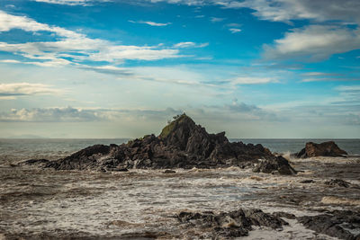
[[[318,216],[305,216],[298,220],[317,233],[347,240],[360,240],[360,213],[336,210]]]

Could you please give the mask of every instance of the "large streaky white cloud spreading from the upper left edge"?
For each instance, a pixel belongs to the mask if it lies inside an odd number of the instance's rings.
[[[76,31],[69,31],[58,26],[49,26],[25,16],[15,16],[0,11],[0,31],[10,31],[11,29],[34,32],[50,31],[61,37],[57,41],[18,44],[0,42],[0,48],[3,51],[30,58],[30,61],[24,63],[43,67],[68,64],[79,65],[84,60],[121,63],[126,59],[157,60],[183,57],[178,54],[178,49],[166,49],[160,45],[154,47],[114,45],[107,40],[90,39]]]

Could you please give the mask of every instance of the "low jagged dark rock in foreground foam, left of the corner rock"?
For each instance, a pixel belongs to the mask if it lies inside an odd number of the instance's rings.
[[[181,223],[188,227],[200,227],[211,232],[211,237],[238,237],[247,236],[251,226],[271,227],[283,229],[287,225],[281,218],[267,214],[260,209],[238,209],[231,212],[181,212],[176,216]]]

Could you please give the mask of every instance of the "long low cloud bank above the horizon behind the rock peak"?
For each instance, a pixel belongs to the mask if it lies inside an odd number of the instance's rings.
[[[181,114],[186,110],[166,108],[165,110],[116,110],[116,109],[80,109],[65,108],[34,108],[12,109],[0,113],[3,122],[92,122],[92,121],[119,121],[130,120],[158,120],[165,121],[172,116]],[[202,108],[187,108],[194,118],[214,116],[228,116],[237,120],[280,120],[274,112],[264,111],[255,105],[234,101],[232,104],[221,106],[202,106]],[[199,115],[200,114],[200,115]]]

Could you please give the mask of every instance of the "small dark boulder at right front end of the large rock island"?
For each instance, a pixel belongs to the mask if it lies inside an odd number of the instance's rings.
[[[283,156],[261,159],[253,168],[255,173],[280,173],[284,175],[296,174],[297,172]]]

